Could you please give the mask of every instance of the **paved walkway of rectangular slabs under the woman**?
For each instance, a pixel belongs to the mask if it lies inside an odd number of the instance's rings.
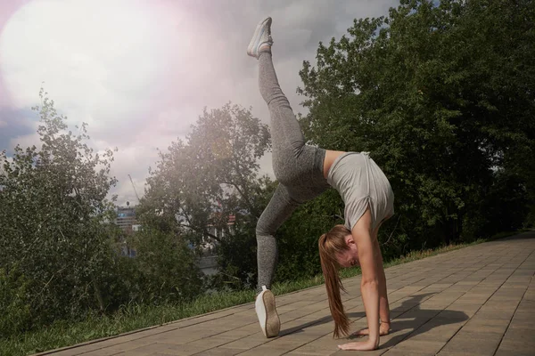
[[[342,352],[325,287],[277,297],[279,337],[259,331],[252,303],[81,344],[67,355],[535,355],[535,231],[386,270],[391,334],[374,352]],[[353,330],[366,326],[360,278],[345,279]]]

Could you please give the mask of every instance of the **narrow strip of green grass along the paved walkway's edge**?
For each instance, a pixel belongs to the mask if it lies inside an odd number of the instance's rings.
[[[490,239],[478,239],[469,244],[450,245],[423,251],[413,251],[409,254],[384,263],[388,268],[400,263],[420,260],[432,255],[439,255],[459,248],[479,244],[481,242],[501,239],[516,232],[500,233]],[[341,277],[350,278],[360,274],[359,268],[344,269]],[[301,279],[291,282],[278,283],[273,286],[276,295],[283,295],[308,287],[315,287],[324,282],[323,276],[311,279]],[[128,331],[158,326],[170,321],[185,319],[207,312],[215,312],[227,307],[251,303],[255,297],[254,290],[215,293],[202,295],[191,303],[165,304],[159,306],[131,304],[119,309],[111,316],[90,315],[79,322],[58,321],[48,328],[28,332],[21,336],[0,339],[1,355],[27,355],[56,348],[79,344],[107,336],[117,336]]]

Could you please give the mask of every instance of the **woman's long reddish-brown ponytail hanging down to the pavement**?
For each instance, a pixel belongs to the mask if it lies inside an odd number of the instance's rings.
[[[343,311],[342,297],[340,295],[340,289],[344,292],[346,291],[338,274],[338,270],[342,266],[336,259],[336,255],[342,254],[350,248],[345,240],[346,236],[350,234],[351,231],[345,226],[336,225],[331,231],[321,235],[317,242],[325,288],[329,298],[329,308],[334,320],[333,337],[345,336],[350,333],[350,320]]]

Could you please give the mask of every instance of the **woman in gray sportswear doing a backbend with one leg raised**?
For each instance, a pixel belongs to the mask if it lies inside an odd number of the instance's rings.
[[[279,185],[257,224],[259,295],[256,312],[265,336],[277,336],[280,320],[275,296],[269,290],[275,273],[277,247],[274,234],[300,204],[317,197],[329,186],[345,203],[345,225],[337,225],[319,239],[325,287],[334,320],[334,336],[349,334],[350,321],[343,312],[338,270],[359,264],[361,292],[369,335],[366,342],[341,345],[344,350],[374,350],[379,335],[388,333],[390,311],[386,295],[383,259],[377,231],[393,214],[390,183],[366,153],[323,150],[305,145],[299,122],[284,96],[271,58],[271,18],[257,26],[247,54],[259,60],[259,89],[268,103],[273,170]],[[381,325],[379,319],[381,318]]]

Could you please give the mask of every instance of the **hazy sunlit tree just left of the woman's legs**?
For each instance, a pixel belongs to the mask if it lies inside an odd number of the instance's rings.
[[[256,279],[254,227],[272,186],[258,176],[258,159],[269,148],[268,126],[250,110],[230,103],[205,109],[185,142],[160,153],[138,207],[142,223],[197,252],[217,241],[218,286],[250,283]]]

